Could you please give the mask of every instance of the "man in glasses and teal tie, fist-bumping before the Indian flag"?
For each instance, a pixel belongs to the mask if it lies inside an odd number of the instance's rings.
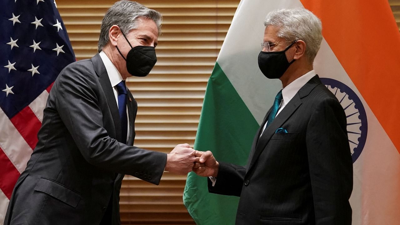
[[[297,8],[270,12],[264,26],[258,64],[283,89],[254,137],[248,163],[222,163],[210,151],[196,152],[193,171],[210,177],[210,193],[240,197],[236,224],[350,225],[346,115],[312,66],[321,22]]]

